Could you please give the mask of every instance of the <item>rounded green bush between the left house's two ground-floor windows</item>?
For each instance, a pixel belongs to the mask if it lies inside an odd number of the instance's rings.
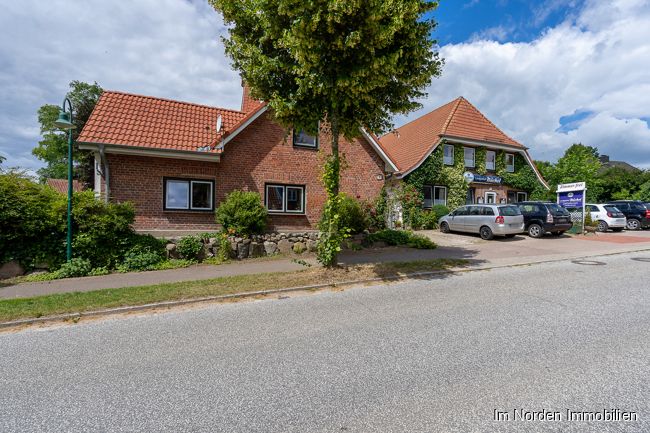
[[[231,192],[216,211],[217,223],[241,236],[263,233],[267,216],[260,195],[248,191]]]

